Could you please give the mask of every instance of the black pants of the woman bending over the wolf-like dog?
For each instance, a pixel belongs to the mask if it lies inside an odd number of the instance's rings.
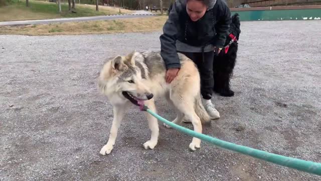
[[[210,100],[213,94],[214,78],[213,78],[213,58],[214,51],[204,52],[204,61],[203,53],[194,53],[194,52],[181,52],[187,57],[193,60],[197,65],[200,75],[201,75],[201,94],[202,97],[206,100]]]

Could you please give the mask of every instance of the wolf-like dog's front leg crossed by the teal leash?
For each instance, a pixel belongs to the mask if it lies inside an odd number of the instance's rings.
[[[145,101],[145,105],[148,106],[148,108],[156,113],[156,108],[155,108],[155,104],[154,104],[154,100],[148,100]],[[157,144],[158,141],[158,134],[159,134],[159,128],[158,128],[158,122],[157,119],[153,116],[151,116],[149,113],[145,112],[145,116],[147,117],[148,120],[148,126],[149,129],[151,131],[151,136],[150,136],[150,140],[148,140],[147,142],[145,142],[143,144],[145,149],[154,149],[154,147]]]

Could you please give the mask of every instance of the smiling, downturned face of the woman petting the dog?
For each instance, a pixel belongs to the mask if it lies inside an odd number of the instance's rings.
[[[202,1],[189,0],[186,5],[187,14],[192,21],[201,19],[207,10],[207,6]]]

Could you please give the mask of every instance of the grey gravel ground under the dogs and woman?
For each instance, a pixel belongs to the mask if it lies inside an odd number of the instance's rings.
[[[242,22],[241,29],[236,95],[213,98],[221,118],[204,133],[321,162],[320,21]],[[321,179],[206,142],[191,152],[191,137],[161,122],[158,145],[144,150],[150,132],[135,108],[112,153],[99,155],[113,117],[95,85],[104,58],[159,50],[160,34],[1,35],[0,180]],[[157,105],[159,115],[175,118],[165,101]]]

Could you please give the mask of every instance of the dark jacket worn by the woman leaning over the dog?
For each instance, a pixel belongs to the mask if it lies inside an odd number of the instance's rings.
[[[194,46],[213,44],[223,48],[231,23],[231,12],[223,0],[217,0],[214,7],[193,22],[186,11],[186,0],[176,0],[163,27],[161,56],[166,68],[180,68],[176,40]]]

